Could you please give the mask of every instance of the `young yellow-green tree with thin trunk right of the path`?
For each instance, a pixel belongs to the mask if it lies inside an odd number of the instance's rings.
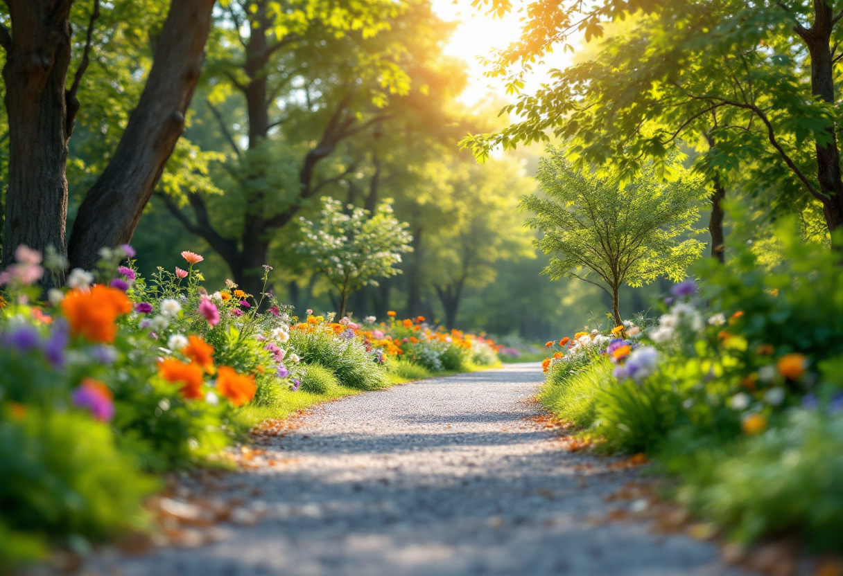
[[[700,232],[692,225],[706,197],[702,179],[674,167],[681,178],[663,184],[648,164],[638,178],[619,185],[588,168],[574,168],[558,148],[548,147],[548,153],[536,176],[547,197],[529,195],[522,202],[536,214],[527,220],[529,227],[544,232],[534,243],[550,254],[543,274],[598,285],[612,296],[612,316],[620,325],[621,285],[649,284],[661,275],[682,280],[702,252],[699,241],[680,239]],[[589,280],[590,272],[595,280]]]

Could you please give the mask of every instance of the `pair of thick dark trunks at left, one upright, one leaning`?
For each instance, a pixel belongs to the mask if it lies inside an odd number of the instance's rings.
[[[178,0],[156,31],[153,65],[105,172],[86,195],[70,242],[72,265],[91,267],[103,246],[128,242],[185,124],[201,72],[214,0]],[[67,154],[84,103],[94,27],[106,8],[94,0],[83,42],[74,44],[72,0],[6,0],[0,27],[8,115],[8,192],[4,262],[20,244],[63,252]],[[68,82],[74,50],[78,65]],[[145,71],[141,71],[145,72]]]

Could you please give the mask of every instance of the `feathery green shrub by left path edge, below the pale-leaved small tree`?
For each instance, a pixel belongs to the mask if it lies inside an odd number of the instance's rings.
[[[332,371],[342,386],[376,390],[389,383],[384,367],[358,339],[337,339],[323,330],[293,330],[288,345],[304,364],[319,364]]]

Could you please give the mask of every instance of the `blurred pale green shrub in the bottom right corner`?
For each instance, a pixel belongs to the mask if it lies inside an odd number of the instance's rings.
[[[813,551],[843,547],[843,415],[797,410],[786,425],[698,451],[679,498],[739,541],[797,534]]]

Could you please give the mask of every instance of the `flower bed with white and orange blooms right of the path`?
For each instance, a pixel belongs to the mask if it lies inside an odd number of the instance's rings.
[[[776,269],[738,248],[701,264],[701,287],[675,285],[658,323],[563,339],[541,399],[600,449],[653,456],[734,540],[839,552],[843,269],[792,228],[778,237]]]

